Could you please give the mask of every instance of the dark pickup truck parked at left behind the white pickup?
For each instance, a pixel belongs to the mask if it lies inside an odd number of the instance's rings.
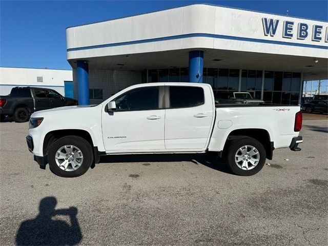
[[[0,96],[0,119],[13,117],[15,122],[28,121],[39,110],[77,105],[77,101],[58,92],[37,87],[14,87],[7,96]]]

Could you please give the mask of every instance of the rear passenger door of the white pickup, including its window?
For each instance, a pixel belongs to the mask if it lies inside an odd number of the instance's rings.
[[[166,86],[165,148],[204,149],[214,120],[210,87]]]

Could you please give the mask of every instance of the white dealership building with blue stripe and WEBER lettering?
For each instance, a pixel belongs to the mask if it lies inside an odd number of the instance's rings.
[[[304,80],[328,78],[328,23],[321,20],[195,4],[66,32],[79,104],[167,81],[299,104]]]

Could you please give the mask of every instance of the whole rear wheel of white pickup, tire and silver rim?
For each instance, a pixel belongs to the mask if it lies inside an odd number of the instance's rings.
[[[230,141],[227,152],[229,169],[241,176],[258,173],[263,168],[266,159],[263,145],[251,137]]]

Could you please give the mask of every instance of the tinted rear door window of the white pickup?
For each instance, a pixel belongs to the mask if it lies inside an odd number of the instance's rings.
[[[170,108],[187,108],[204,104],[201,87],[170,86]]]

